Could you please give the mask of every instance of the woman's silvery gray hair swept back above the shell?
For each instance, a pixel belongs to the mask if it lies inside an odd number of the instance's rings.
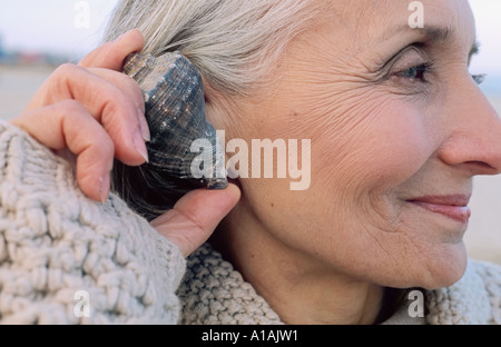
[[[219,91],[246,95],[318,14],[316,0],[120,0],[105,41],[131,29],[145,53],[180,51]]]

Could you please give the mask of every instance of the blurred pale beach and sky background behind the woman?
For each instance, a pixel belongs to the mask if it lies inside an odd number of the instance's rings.
[[[99,46],[117,0],[0,0],[0,120],[18,116],[62,62]],[[481,51],[471,72],[501,115],[501,1],[470,0]],[[501,140],[501,139],[500,139]],[[501,264],[501,176],[475,179],[466,234],[472,258]]]

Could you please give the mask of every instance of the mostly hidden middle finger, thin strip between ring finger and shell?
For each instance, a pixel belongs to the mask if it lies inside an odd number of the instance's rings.
[[[137,82],[125,73],[108,70],[108,69],[88,69],[91,73],[106,79],[108,82],[118,87],[128,99],[132,100],[137,109],[137,117],[139,119],[143,139],[147,142],[151,140],[151,135],[148,128],[148,122],[145,117],[145,99]]]

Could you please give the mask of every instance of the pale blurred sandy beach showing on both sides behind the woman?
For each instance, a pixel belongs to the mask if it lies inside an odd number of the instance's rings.
[[[51,72],[48,68],[0,66],[0,119],[19,115]],[[490,100],[501,115],[501,96]],[[474,187],[465,237],[470,257],[501,264],[501,176],[477,178]]]

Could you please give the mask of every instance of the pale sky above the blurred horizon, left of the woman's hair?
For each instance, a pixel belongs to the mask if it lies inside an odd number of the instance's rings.
[[[81,57],[98,46],[117,0],[0,0],[0,36],[10,50]],[[88,19],[82,13],[88,6]],[[84,18],[84,19],[82,19]]]

